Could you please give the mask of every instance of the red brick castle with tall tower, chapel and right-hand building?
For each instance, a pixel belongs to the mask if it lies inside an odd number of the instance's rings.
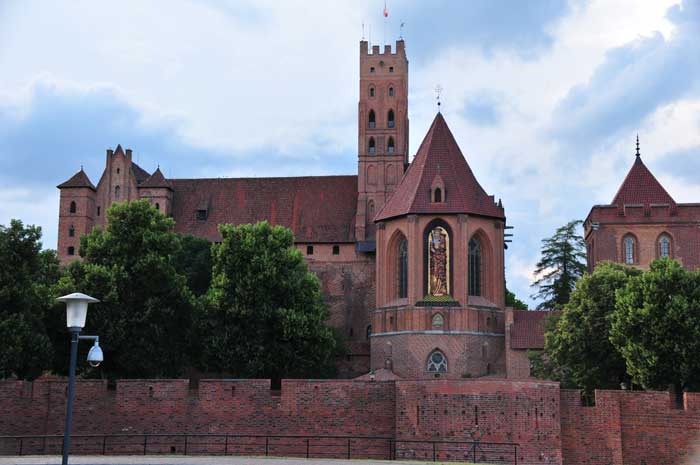
[[[529,376],[544,312],[505,308],[505,210],[477,181],[437,113],[409,163],[405,43],[360,42],[358,172],[352,176],[166,179],[132,151],[107,150],[97,186],[60,184],[58,256],[104,226],[114,202],[147,199],[175,231],[220,240],[222,223],[289,227],[322,282],[329,323],[348,338],[341,373],[373,379]],[[676,204],[637,154],[611,205],[585,222],[589,266],[644,266],[662,255],[697,267],[700,206]],[[370,376],[370,375],[366,375]]]

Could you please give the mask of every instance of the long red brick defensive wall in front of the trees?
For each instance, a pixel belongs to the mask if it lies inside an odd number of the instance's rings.
[[[0,436],[62,434],[66,388],[64,380],[0,382]],[[196,388],[188,380],[83,380],[73,425],[74,434],[478,439],[517,443],[519,464],[677,465],[695,463],[700,393],[674,408],[667,392],[597,391],[595,405],[583,406],[578,391],[557,383],[494,378],[284,380],[281,392],[269,380],[202,380]],[[8,447],[0,453],[11,454]],[[182,452],[180,444],[169,451]]]

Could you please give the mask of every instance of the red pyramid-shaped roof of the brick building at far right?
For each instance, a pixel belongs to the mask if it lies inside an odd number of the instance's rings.
[[[637,155],[627,177],[615,194],[612,205],[623,207],[631,204],[664,203],[675,205],[676,202],[642,162],[642,157]]]

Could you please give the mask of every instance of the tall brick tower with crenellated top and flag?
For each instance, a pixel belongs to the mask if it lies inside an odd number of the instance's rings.
[[[403,40],[370,53],[360,42],[358,197],[355,237],[374,240],[374,216],[408,165],[408,60]]]

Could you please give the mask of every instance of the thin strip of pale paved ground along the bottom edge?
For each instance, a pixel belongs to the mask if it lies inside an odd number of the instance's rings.
[[[61,457],[51,455],[0,457],[0,465],[56,465],[60,463]],[[124,457],[91,457],[82,455],[71,457],[70,463],[75,465],[389,465],[394,463],[415,465],[425,462],[252,457],[144,457],[142,455]]]

